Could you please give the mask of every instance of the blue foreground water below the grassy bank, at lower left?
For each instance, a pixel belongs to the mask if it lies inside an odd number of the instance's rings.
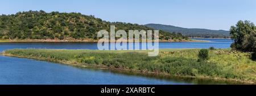
[[[189,84],[0,56],[0,84]]]

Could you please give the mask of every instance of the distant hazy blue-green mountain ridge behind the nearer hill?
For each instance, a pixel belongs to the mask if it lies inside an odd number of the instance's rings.
[[[164,24],[145,24],[144,26],[163,30],[168,32],[180,32],[182,35],[189,37],[230,37],[229,31],[225,30],[208,30],[204,28],[182,28]]]

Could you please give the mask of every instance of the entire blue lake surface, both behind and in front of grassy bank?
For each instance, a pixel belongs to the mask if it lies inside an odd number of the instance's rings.
[[[229,48],[230,39],[210,42],[162,42],[159,48]],[[97,49],[97,43],[0,43],[0,51],[13,48]],[[142,76],[107,70],[80,69],[32,59],[0,56],[0,84],[227,84],[189,78]]]

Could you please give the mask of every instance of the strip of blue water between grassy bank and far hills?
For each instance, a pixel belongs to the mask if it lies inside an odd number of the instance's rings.
[[[231,39],[197,40],[208,40],[209,42],[160,42],[159,48],[229,48],[233,42]],[[0,51],[13,48],[98,49],[97,43],[0,43]]]

